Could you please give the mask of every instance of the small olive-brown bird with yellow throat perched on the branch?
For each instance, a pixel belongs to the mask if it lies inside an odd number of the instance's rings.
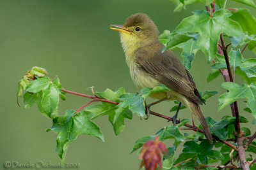
[[[163,84],[170,89],[150,95],[159,101],[148,104],[147,113],[149,114],[150,106],[161,101],[180,101],[196,115],[206,138],[212,143],[211,131],[199,107],[204,101],[196,89],[195,82],[188,69],[172,51],[162,52],[164,45],[158,39],[159,32],[154,22],[147,15],[136,13],[127,18],[124,25],[112,26],[116,28],[111,29],[120,32],[126,62],[135,85],[142,89]],[[175,120],[177,114],[173,118]]]

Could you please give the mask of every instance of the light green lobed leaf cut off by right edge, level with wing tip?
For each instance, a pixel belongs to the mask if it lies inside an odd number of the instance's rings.
[[[243,84],[242,86],[237,85],[237,83],[225,82],[221,86],[229,92],[221,95],[219,97],[219,110],[222,110],[225,106],[237,101],[238,99],[246,98],[246,106],[250,108],[253,116],[256,118],[256,85]]]

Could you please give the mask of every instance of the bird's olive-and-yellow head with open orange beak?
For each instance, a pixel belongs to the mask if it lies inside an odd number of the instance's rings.
[[[148,45],[158,39],[158,30],[154,22],[144,13],[131,15],[124,25],[116,25],[111,29],[119,31],[124,50],[136,49]]]

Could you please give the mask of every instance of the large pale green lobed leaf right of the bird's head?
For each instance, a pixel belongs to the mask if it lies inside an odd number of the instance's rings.
[[[215,11],[211,18],[211,13],[205,10],[193,11],[195,15],[184,18],[177,27],[177,32],[198,32],[197,45],[202,49],[208,60],[214,59],[218,51],[218,40],[220,34],[228,36],[242,36],[244,33],[237,22],[229,17],[232,13],[228,10]],[[225,23],[225,24],[223,24]]]

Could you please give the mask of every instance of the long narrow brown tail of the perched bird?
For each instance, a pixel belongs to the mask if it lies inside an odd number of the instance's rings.
[[[191,110],[196,115],[196,118],[198,118],[200,124],[204,129],[205,137],[210,141],[210,143],[212,143],[212,134],[202,113],[202,110],[200,109],[200,106],[196,103],[193,103],[193,101],[189,100],[188,103],[186,103],[185,105],[188,105],[186,107],[189,108],[189,110]]]

